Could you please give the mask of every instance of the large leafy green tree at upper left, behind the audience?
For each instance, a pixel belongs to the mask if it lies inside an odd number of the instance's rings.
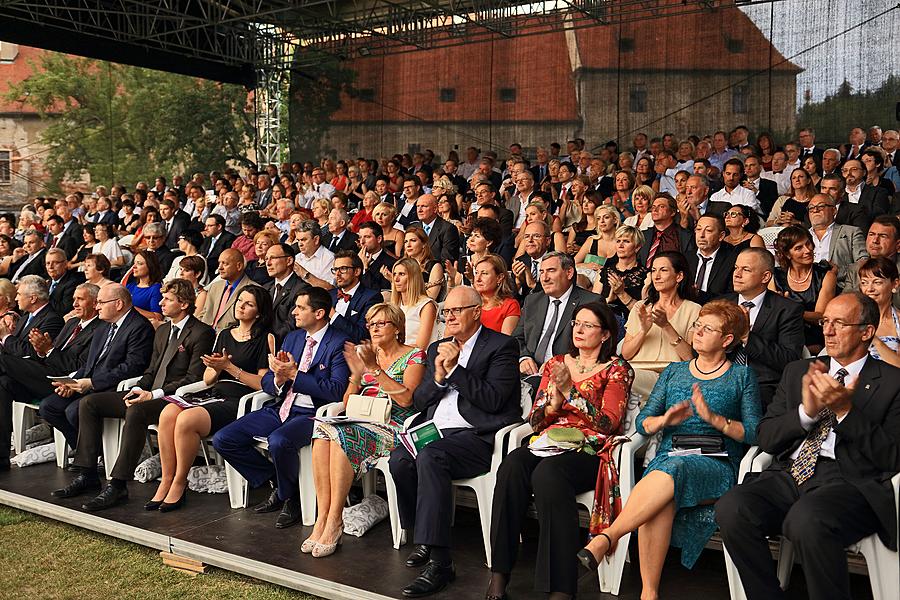
[[[253,115],[240,86],[51,52],[32,67],[7,98],[48,120],[41,141],[54,187],[83,172],[133,184],[250,162]]]

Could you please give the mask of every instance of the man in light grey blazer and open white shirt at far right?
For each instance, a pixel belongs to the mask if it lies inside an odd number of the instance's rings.
[[[858,227],[834,222],[837,207],[828,194],[816,194],[809,201],[809,232],[815,244],[815,260],[827,260],[838,269],[838,287],[849,282],[850,266],[866,254],[866,238]]]

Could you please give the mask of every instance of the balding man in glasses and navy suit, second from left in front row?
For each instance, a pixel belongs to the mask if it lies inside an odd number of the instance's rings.
[[[73,375],[75,383],[54,384],[56,392],[41,400],[41,418],[66,437],[70,448],[78,441],[79,399],[90,391],[115,390],[150,361],[153,326],[132,308],[125,287],[104,286],[97,294],[97,313],[106,324],[94,331],[87,361]]]

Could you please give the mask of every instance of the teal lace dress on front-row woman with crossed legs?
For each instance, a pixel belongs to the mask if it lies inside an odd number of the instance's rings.
[[[747,445],[756,443],[756,426],[761,417],[761,403],[756,375],[743,365],[732,365],[716,379],[701,380],[691,375],[689,362],[672,363],[659,376],[650,399],[637,418],[637,430],[647,435],[644,419],[658,417],[674,404],[689,400],[692,387],[700,390],[713,412],[740,421],[744,426],[744,443],[728,436],[725,449],[728,458],[710,456],[669,456],[675,434],[722,435],[709,423],[692,415],[683,423],[663,430],[662,442],[656,457],[647,465],[650,471],[662,471],[675,481],[675,522],[672,542],[681,548],[681,564],[694,566],[703,547],[716,531],[715,510],[711,503],[737,483],[738,468]],[[746,444],[746,445],[745,445]]]

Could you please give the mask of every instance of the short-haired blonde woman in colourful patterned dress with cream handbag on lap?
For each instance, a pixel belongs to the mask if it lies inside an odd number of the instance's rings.
[[[344,358],[350,367],[352,394],[389,397],[391,419],[387,424],[317,423],[313,431],[313,478],[319,507],[312,535],[300,551],[322,558],[333,554],[344,531],[343,510],[353,480],[362,476],[399,443],[403,422],[415,413],[413,392],[425,374],[425,353],[402,343],[406,339],[403,311],[391,304],[376,304],[366,313],[371,342],[347,343]]]

